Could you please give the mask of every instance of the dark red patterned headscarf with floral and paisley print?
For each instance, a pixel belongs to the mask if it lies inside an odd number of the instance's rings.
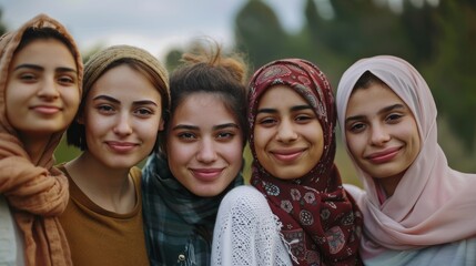
[[[282,222],[281,232],[296,265],[359,265],[362,215],[344,191],[334,165],[336,113],[331,84],[317,66],[304,60],[278,60],[264,65],[250,84],[250,132],[254,132],[260,96],[277,84],[294,89],[314,108],[324,132],[324,151],[306,175],[282,181],[260,165],[251,134],[251,183],[266,196]]]

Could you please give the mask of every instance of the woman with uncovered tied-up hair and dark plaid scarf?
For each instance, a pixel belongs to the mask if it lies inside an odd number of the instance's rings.
[[[171,75],[171,116],[161,151],[143,168],[152,265],[210,265],[220,202],[243,183],[246,68],[220,48],[184,54]]]

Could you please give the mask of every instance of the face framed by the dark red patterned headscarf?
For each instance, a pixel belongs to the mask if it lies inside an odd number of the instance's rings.
[[[321,160],[323,130],[314,109],[294,90],[277,85],[263,94],[254,125],[254,150],[270,174],[293,180]]]

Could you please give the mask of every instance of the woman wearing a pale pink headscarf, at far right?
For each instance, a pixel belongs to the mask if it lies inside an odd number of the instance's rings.
[[[476,175],[449,168],[437,143],[436,105],[408,62],[363,59],[342,76],[343,140],[364,191],[366,265],[476,265]]]

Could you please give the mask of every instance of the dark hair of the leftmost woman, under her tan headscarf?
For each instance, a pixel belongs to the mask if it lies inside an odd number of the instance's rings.
[[[62,33],[60,33],[57,29],[48,28],[48,27],[44,27],[44,28],[37,28],[37,27],[27,28],[27,30],[23,32],[23,35],[21,37],[20,43],[18,44],[17,49],[14,50],[14,53],[22,50],[24,47],[30,44],[32,41],[49,40],[49,39],[53,39],[53,40],[58,40],[58,41],[62,42],[68,48],[68,50],[71,52],[73,58],[74,59],[78,58],[79,54],[77,54],[75,49],[74,49],[73,44],[71,43],[71,41],[67,37],[64,37]],[[77,68],[78,68],[78,65],[77,65]]]

